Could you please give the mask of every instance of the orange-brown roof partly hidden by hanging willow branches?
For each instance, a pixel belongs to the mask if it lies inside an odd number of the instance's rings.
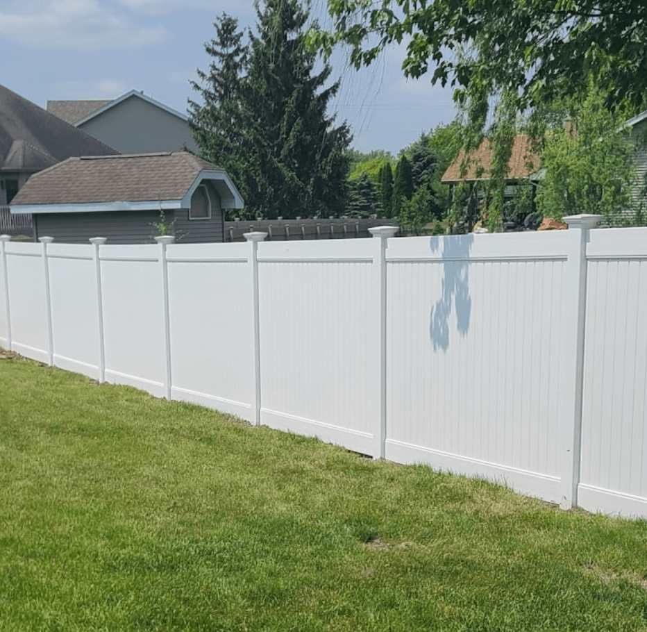
[[[460,150],[456,160],[449,165],[442,177],[442,182],[453,183],[460,181],[473,182],[477,180],[489,180],[494,151],[489,139],[485,138],[480,147],[469,156],[467,173],[461,177],[461,163],[464,160],[465,152]],[[514,138],[512,153],[510,155],[510,169],[506,180],[523,180],[535,174],[539,169],[541,156],[532,149],[530,138],[525,134],[519,134]]]

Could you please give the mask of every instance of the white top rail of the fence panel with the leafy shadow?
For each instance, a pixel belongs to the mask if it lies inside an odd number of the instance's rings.
[[[389,239],[387,261],[564,260],[567,231]]]

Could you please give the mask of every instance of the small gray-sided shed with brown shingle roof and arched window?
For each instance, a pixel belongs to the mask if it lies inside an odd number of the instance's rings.
[[[32,176],[10,208],[33,215],[35,238],[142,244],[162,223],[182,242],[222,242],[223,210],[243,206],[226,172],[176,151],[69,158]]]

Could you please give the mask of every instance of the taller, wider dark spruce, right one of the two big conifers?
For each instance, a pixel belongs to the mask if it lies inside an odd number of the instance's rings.
[[[305,45],[308,13],[297,0],[265,0],[256,13],[245,98],[253,164],[246,202],[265,217],[339,215],[351,135],[326,116],[339,83],[324,88],[329,65],[314,73],[317,57]]]

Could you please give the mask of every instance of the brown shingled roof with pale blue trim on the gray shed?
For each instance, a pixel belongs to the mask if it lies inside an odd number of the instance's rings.
[[[187,151],[68,158],[31,176],[11,207],[13,213],[188,208],[205,180],[224,208],[242,208],[226,172]]]

